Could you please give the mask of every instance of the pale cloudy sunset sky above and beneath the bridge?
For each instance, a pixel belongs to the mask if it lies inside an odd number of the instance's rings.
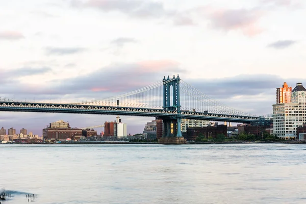
[[[0,1],[0,97],[98,100],[180,74],[228,106],[267,115],[277,87],[306,84],[305,6],[302,0]],[[41,135],[61,119],[86,127],[115,118],[1,112],[0,126]],[[121,118],[131,134],[154,119]]]

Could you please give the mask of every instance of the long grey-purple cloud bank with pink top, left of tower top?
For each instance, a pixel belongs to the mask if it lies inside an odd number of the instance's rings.
[[[20,95],[40,95],[41,99],[69,95],[74,98],[105,98],[142,88],[163,79],[160,74],[178,74],[185,70],[179,63],[171,60],[151,60],[130,64],[112,64],[92,73],[76,78],[55,80],[48,84],[19,84],[0,87],[0,93]],[[37,96],[36,96],[37,97]]]

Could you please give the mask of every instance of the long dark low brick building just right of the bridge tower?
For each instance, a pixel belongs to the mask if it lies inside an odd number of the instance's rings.
[[[187,134],[185,134],[184,137],[188,141],[194,141],[200,134],[204,135],[206,138],[215,138],[219,134],[226,136],[227,126],[221,124],[206,127],[188,127]]]

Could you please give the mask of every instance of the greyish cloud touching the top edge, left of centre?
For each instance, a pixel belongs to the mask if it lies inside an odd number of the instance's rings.
[[[141,0],[88,0],[71,2],[77,8],[96,8],[103,12],[118,11],[131,17],[159,18],[168,13],[162,3]]]

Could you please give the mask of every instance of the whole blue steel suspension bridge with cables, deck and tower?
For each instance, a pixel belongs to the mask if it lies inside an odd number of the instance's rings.
[[[83,103],[44,103],[0,97],[0,111],[147,116],[163,119],[164,137],[181,138],[181,120],[249,123],[256,115],[238,111],[201,93],[179,75],[115,97]],[[171,131],[172,126],[172,131]]]

